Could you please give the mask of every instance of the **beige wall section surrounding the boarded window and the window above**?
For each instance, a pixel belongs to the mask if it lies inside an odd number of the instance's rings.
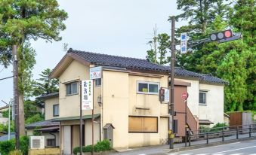
[[[164,138],[167,135],[162,132],[162,127],[168,126],[165,121],[164,126],[160,126],[160,116],[168,115],[168,105],[159,102],[159,95],[139,94],[137,93],[137,81],[156,82],[159,87],[167,86],[167,76],[159,76],[158,78],[147,76],[129,75],[129,115],[132,116],[153,116],[158,117],[158,132],[157,133],[128,133],[129,147],[140,147],[159,144],[160,137]],[[149,110],[140,110],[136,108],[149,108]],[[161,130],[162,135],[160,135]],[[167,138],[167,137],[166,137]]]

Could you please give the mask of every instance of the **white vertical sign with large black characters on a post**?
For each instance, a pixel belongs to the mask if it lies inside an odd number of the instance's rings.
[[[82,110],[93,109],[94,83],[92,80],[82,81]]]

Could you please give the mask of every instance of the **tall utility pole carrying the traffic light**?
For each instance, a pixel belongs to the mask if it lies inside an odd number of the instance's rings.
[[[169,129],[169,144],[170,149],[174,148],[174,64],[175,64],[175,17],[171,17],[171,85],[170,85],[170,129]]]

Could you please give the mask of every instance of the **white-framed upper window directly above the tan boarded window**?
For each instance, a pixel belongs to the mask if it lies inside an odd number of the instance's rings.
[[[137,93],[159,94],[159,83],[137,81]]]

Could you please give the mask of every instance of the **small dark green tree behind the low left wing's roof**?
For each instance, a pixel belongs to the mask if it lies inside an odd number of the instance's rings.
[[[44,94],[58,92],[59,81],[55,78],[50,78],[51,69],[46,68],[42,71],[42,74],[39,74],[41,78],[34,81],[33,84],[33,96],[42,96]]]

